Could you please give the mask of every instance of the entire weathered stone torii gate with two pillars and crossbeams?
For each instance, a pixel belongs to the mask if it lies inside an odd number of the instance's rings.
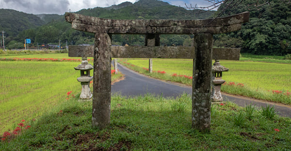
[[[110,123],[111,58],[193,59],[192,127],[210,130],[212,59],[239,60],[239,52],[212,53],[212,34],[240,30],[249,12],[201,20],[116,20],[65,13],[75,30],[95,33],[94,46],[70,46],[69,57],[94,57],[92,125]],[[145,46],[111,46],[112,34],[145,34]],[[194,34],[194,46],[160,46],[160,34]]]

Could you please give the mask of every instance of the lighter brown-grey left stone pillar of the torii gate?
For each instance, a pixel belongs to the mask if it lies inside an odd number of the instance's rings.
[[[111,108],[111,36],[96,33],[94,43],[94,84],[92,125],[100,129],[110,123]],[[97,86],[97,87],[95,87]]]

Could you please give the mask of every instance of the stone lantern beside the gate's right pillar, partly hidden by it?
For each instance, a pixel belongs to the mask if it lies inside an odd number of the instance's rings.
[[[215,60],[212,65],[212,93],[211,99],[212,103],[221,103],[223,101],[223,97],[221,95],[221,85],[224,84],[226,81],[222,79],[222,72],[228,71],[228,68],[221,65],[219,60]]]

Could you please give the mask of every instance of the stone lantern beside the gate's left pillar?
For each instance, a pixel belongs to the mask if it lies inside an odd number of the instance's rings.
[[[78,77],[77,80],[81,82],[82,91],[80,94],[80,99],[89,100],[92,98],[92,94],[90,91],[90,81],[93,80],[93,76],[90,76],[90,70],[93,69],[93,65],[88,63],[87,57],[82,57],[82,63],[77,67],[74,67],[75,70],[81,71],[81,77]]]

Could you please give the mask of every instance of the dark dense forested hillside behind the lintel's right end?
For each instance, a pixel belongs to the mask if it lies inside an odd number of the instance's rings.
[[[266,0],[259,0],[263,4]],[[286,55],[291,53],[291,1],[269,0],[270,5],[257,4],[257,0],[243,0],[235,8],[228,8],[224,16],[250,12],[248,23],[242,30],[216,35],[215,45],[242,47],[242,52],[257,55]],[[217,14],[226,7],[219,7]]]

